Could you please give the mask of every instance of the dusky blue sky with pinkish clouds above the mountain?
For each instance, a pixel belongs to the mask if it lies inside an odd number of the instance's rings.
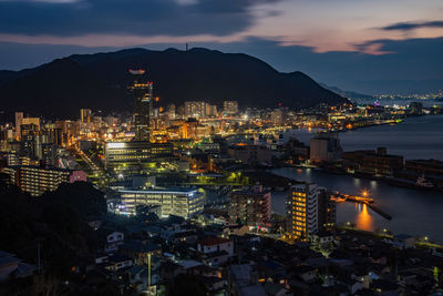
[[[0,69],[186,42],[377,93],[381,81],[443,82],[443,1],[0,0]]]

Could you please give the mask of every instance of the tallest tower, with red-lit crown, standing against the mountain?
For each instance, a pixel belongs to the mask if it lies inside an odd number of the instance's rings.
[[[153,83],[143,81],[143,69],[130,70],[134,84],[130,86],[134,94],[135,141],[150,141],[150,115],[153,101]]]

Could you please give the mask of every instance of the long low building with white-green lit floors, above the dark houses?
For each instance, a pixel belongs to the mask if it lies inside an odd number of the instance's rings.
[[[189,218],[202,213],[205,197],[202,192],[192,188],[120,191],[121,205],[117,212],[135,215],[137,205],[161,206],[162,216],[176,215]]]

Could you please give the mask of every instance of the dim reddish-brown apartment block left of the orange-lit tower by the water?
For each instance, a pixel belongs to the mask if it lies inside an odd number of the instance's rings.
[[[248,226],[264,226],[270,220],[270,192],[261,186],[250,191],[234,191],[229,194],[229,218]]]

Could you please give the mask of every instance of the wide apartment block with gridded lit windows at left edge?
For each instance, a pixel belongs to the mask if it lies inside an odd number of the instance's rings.
[[[16,185],[32,196],[42,195],[47,191],[54,191],[62,183],[86,182],[83,171],[62,169],[43,169],[38,166],[10,166],[3,170]]]

